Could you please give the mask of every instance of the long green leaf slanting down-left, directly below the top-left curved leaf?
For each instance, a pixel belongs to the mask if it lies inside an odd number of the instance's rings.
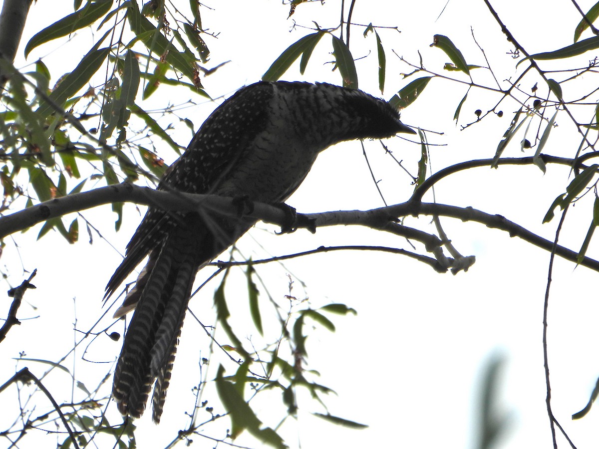
[[[108,53],[110,53],[110,48],[108,47],[92,50],[90,53],[87,53],[77,67],[60,81],[58,87],[50,94],[50,100],[60,108],[63,108],[66,101],[85,86],[93,74],[99,70]],[[43,117],[47,117],[52,112],[52,105],[42,100],[37,113]]]

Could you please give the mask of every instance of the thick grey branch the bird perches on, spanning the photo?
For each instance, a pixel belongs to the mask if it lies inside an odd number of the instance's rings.
[[[149,187],[139,187],[123,183],[52,199],[13,213],[9,216],[2,217],[0,219],[0,238],[4,238],[13,232],[26,229],[36,223],[60,217],[68,213],[86,210],[102,204],[111,204],[113,202],[122,201],[150,205],[152,207],[171,211],[199,211],[202,214],[208,212],[233,217],[240,216],[238,204],[234,202],[232,198],[220,197],[217,195],[193,195],[191,193],[183,192],[164,192],[162,190],[150,189]],[[443,245],[443,241],[437,236],[423,232],[419,229],[400,225],[397,222],[398,217],[418,216],[420,214],[453,217],[462,221],[482,223],[487,227],[504,230],[512,237],[519,237],[546,251],[551,251],[553,245],[553,242],[530,232],[530,230],[525,229],[516,223],[510,222],[510,220],[507,220],[500,215],[487,214],[471,207],[464,208],[446,204],[422,203],[414,201],[413,199],[401,204],[368,211],[354,210],[298,214],[300,220],[295,223],[295,226],[305,227],[307,229],[335,225],[367,226],[372,229],[384,230],[386,232],[394,233],[395,235],[405,236],[406,238],[422,242],[425,245],[426,251],[433,253],[436,251],[438,255],[438,248]],[[252,213],[244,214],[244,216],[262,220],[265,223],[288,226],[288,216],[283,210],[264,203],[255,202]],[[556,254],[564,259],[577,263],[578,253],[576,251],[558,245]],[[464,268],[467,268],[469,266],[468,264],[471,265],[471,262],[468,262]],[[579,265],[586,266],[594,271],[599,271],[599,262],[590,257],[585,257]],[[446,268],[449,268],[449,266]]]

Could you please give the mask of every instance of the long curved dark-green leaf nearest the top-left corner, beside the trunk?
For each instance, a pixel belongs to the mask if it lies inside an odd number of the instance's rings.
[[[38,45],[71,34],[73,31],[92,25],[93,22],[104,16],[112,6],[112,0],[98,0],[88,2],[83,8],[58,20],[58,22],[44,28],[32,37],[25,46],[25,57]]]

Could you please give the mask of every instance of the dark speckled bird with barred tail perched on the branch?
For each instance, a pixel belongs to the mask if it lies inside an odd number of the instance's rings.
[[[157,188],[284,204],[320,151],[400,132],[416,134],[391,104],[361,90],[259,81],[210,114]],[[141,417],[153,386],[152,418],[160,421],[196,273],[255,222],[241,215],[148,208],[105,291],[108,298],[148,257],[114,314],[135,309],[113,377],[113,398],[123,416]]]

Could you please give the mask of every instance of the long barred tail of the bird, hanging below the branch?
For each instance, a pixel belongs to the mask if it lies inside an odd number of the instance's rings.
[[[113,396],[123,415],[143,414],[154,383],[152,418],[160,420],[198,269],[197,248],[189,240],[187,232],[171,233],[138,278],[139,301],[114,372]]]

